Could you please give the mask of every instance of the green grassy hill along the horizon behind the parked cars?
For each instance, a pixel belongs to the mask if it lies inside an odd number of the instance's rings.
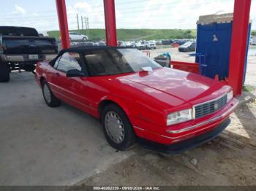
[[[86,34],[86,30],[78,31]],[[89,39],[104,40],[105,29],[94,28],[89,31]],[[59,39],[59,31],[48,31],[50,37]],[[192,39],[196,36],[195,29],[117,29],[118,40],[152,40],[152,39]]]

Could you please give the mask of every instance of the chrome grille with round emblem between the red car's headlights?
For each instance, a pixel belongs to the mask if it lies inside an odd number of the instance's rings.
[[[195,106],[195,119],[212,114],[227,104],[227,95],[222,96],[214,101],[199,104]]]

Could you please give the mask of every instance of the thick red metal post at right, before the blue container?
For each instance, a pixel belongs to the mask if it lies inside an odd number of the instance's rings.
[[[234,95],[241,95],[251,0],[235,0],[228,83]]]

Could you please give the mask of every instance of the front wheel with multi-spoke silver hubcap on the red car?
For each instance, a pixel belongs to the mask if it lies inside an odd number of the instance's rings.
[[[113,148],[126,150],[135,142],[132,124],[129,122],[127,114],[116,104],[105,106],[102,110],[101,122],[105,137]],[[112,136],[113,132],[120,136]]]

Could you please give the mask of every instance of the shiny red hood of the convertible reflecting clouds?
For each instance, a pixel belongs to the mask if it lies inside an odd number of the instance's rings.
[[[191,102],[216,94],[224,85],[208,77],[176,69],[161,68],[154,71],[140,71],[119,77],[167,93],[182,101]]]

